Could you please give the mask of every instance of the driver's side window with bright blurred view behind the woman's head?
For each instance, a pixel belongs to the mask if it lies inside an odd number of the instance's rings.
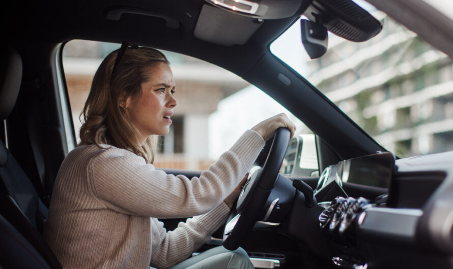
[[[73,40],[63,49],[63,66],[75,135],[93,76],[102,59],[120,44]],[[218,66],[164,51],[174,73],[178,106],[168,135],[159,138],[158,168],[207,170],[242,133],[285,112],[297,133],[310,132],[294,115],[260,89]]]

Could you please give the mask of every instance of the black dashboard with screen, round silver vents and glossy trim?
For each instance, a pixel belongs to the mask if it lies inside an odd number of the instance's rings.
[[[330,165],[314,195],[340,268],[453,266],[453,152]]]

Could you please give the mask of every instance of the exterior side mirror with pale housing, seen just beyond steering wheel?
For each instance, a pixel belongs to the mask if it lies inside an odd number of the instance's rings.
[[[315,135],[298,135],[290,140],[280,174],[285,177],[319,177]]]

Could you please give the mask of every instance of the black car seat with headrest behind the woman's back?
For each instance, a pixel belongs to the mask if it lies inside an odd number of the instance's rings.
[[[22,60],[11,46],[0,62],[0,118],[6,120],[16,102]],[[7,136],[5,136],[7,139]],[[0,141],[0,267],[62,268],[42,238],[47,208],[32,182]]]

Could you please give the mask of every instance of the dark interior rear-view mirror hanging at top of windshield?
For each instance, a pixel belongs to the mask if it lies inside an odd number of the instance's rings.
[[[300,20],[300,32],[302,44],[310,58],[316,59],[326,53],[329,38],[327,28],[322,23],[302,19]]]

